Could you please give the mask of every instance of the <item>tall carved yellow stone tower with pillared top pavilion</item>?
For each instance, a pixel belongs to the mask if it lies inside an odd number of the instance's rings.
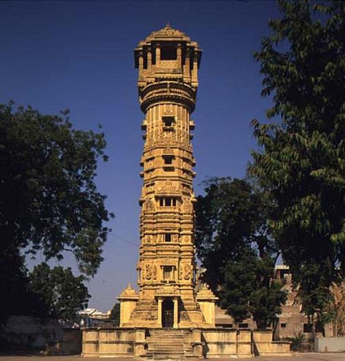
[[[139,293],[129,285],[119,296],[120,326],[215,326],[215,300],[205,287],[195,293],[193,157],[201,49],[169,25],[135,49],[145,140],[140,173],[141,246]]]

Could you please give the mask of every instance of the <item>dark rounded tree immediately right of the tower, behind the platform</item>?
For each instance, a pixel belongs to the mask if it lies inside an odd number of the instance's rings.
[[[286,301],[282,284],[272,280],[277,249],[266,222],[269,204],[244,179],[214,178],[204,185],[195,237],[203,280],[236,322],[253,315],[266,328]]]

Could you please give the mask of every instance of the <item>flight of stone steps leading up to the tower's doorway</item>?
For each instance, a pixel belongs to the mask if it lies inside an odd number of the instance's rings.
[[[151,360],[186,360],[193,358],[188,329],[152,329],[149,331],[146,357]]]

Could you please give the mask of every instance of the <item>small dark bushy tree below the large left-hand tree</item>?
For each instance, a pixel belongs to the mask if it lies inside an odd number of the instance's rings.
[[[82,275],[73,275],[70,267],[50,269],[41,263],[30,273],[28,291],[46,306],[41,315],[72,321],[77,311],[88,306],[90,295],[84,280]]]

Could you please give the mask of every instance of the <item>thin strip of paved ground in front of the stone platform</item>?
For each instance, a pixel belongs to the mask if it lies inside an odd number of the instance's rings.
[[[0,361],[101,361],[101,358],[82,358],[72,356],[43,355],[0,355]],[[106,358],[105,361],[143,361],[134,358]],[[204,359],[202,359],[204,360]],[[233,358],[215,358],[208,361],[228,361]],[[291,356],[259,356],[256,358],[241,358],[239,361],[345,361],[345,353],[295,353]]]

